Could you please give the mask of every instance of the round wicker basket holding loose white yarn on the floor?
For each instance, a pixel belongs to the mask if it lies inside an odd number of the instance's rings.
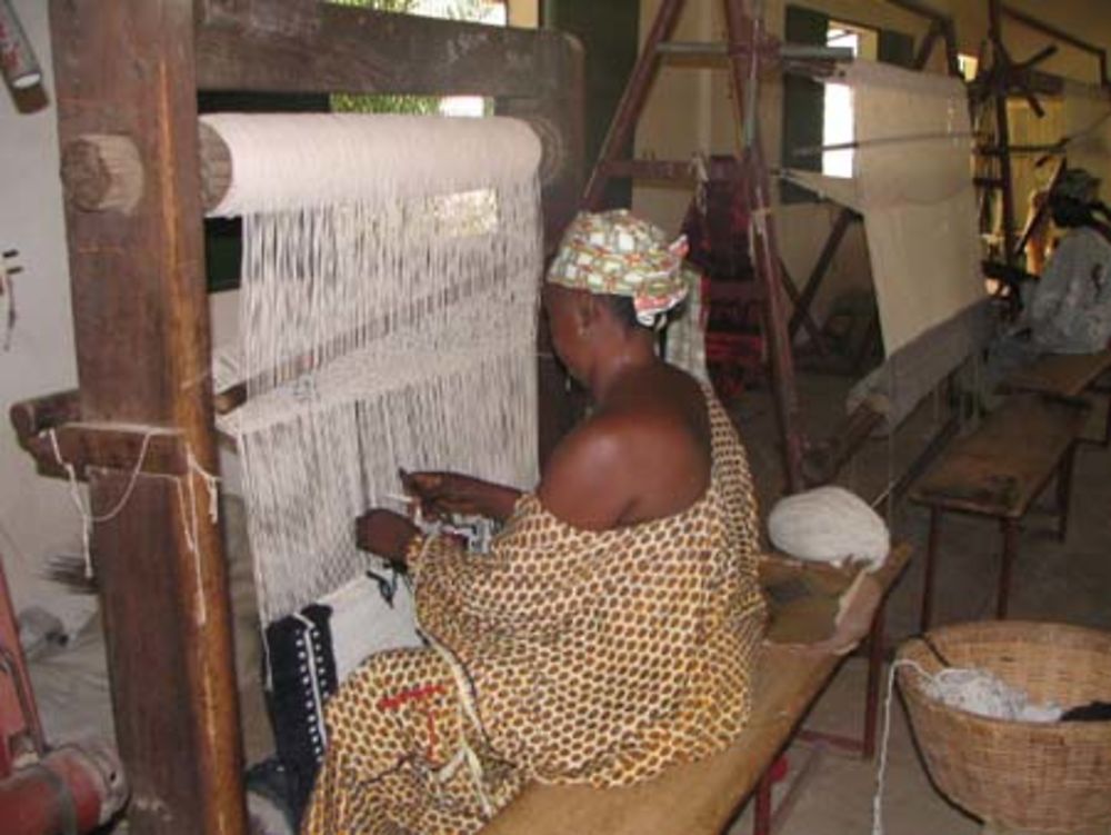
[[[1055,624],[988,622],[930,633],[957,667],[983,667],[1035,702],[1111,702],[1111,634]],[[899,652],[930,673],[941,662],[921,640]],[[1111,722],[991,719],[928,698],[921,676],[899,670],[930,776],[954,803],[998,828],[1075,832],[1111,822]]]

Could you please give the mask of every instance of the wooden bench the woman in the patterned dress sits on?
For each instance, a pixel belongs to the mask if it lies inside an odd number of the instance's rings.
[[[790,742],[845,655],[870,629],[875,648],[882,648],[878,625],[882,624],[883,600],[909,558],[910,548],[900,546],[880,570],[867,576],[872,584],[870,590],[852,596],[839,622],[845,628],[839,628],[835,638],[809,646],[765,642],[757,664],[749,725],[725,750],[620,788],[534,784],[488,824],[482,835],[721,833],[758,784],[769,785],[761,783],[761,777]],[[791,634],[793,624],[783,626],[782,634]],[[770,634],[775,632],[773,624]],[[873,652],[871,657],[878,673],[882,653]],[[870,687],[878,692],[878,675],[874,683],[870,680]],[[758,833],[769,828],[770,803],[767,796],[764,799],[762,821],[758,814]]]

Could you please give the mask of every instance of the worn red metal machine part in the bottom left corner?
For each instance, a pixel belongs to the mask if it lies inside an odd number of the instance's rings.
[[[4,835],[92,832],[127,797],[123,769],[107,746],[47,749],[0,564],[0,828]]]

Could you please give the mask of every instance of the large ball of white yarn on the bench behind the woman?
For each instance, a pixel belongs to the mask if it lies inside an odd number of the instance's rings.
[[[878,568],[891,549],[888,526],[859,496],[819,487],[780,499],[768,517],[772,545],[798,559]]]

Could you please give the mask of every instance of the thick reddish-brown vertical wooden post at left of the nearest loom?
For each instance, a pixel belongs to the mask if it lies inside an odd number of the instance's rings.
[[[216,471],[193,3],[51,0],[50,24],[63,155],[81,137],[117,136],[142,171],[130,209],[67,200],[82,417],[173,428]],[[90,469],[93,513],[130,479]],[[134,833],[246,831],[227,575],[207,500],[196,473],[143,475],[94,529]]]

